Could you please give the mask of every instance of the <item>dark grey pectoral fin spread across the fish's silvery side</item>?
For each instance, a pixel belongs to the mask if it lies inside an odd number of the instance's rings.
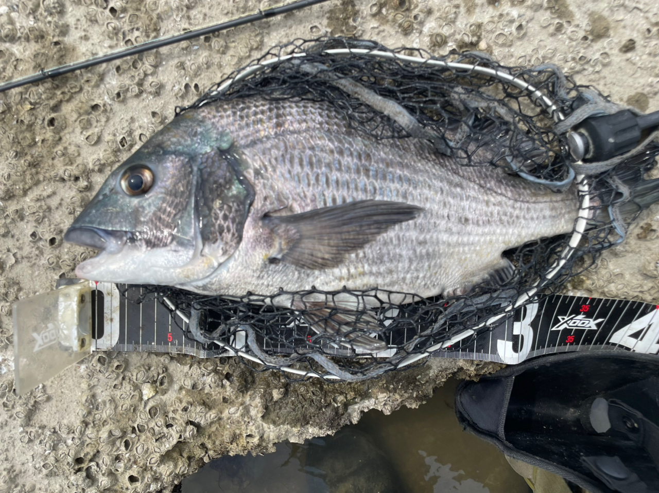
[[[415,219],[421,211],[422,207],[403,202],[361,200],[289,216],[266,215],[263,222],[279,237],[279,261],[306,269],[329,269],[391,226]]]

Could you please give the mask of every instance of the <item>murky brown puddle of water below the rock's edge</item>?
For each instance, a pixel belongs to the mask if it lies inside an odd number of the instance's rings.
[[[369,411],[357,425],[276,452],[221,457],[183,493],[527,493],[494,446],[463,432],[449,380],[418,409]]]

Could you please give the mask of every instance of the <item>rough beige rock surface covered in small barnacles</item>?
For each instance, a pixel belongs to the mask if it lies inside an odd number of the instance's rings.
[[[267,7],[251,0],[4,0],[10,80]],[[620,103],[659,109],[652,0],[333,0],[0,94],[0,493],[157,491],[219,454],[333,432],[370,408],[416,406],[447,375],[432,361],[361,384],[290,384],[231,359],[94,354],[13,394],[11,303],[54,287],[92,254],[63,232],[117,163],[210,84],[271,45],[324,34],[433,53],[480,49],[507,65],[556,63]],[[571,290],[659,299],[659,209]]]

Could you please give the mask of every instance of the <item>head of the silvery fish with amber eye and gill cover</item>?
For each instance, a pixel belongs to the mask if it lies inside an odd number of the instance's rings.
[[[111,172],[65,240],[98,249],[76,275],[177,286],[211,274],[239,243],[253,200],[231,134],[183,113]]]

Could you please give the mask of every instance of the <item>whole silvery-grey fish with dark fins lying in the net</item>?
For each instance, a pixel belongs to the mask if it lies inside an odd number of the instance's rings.
[[[379,328],[368,300],[318,291],[464,294],[511,278],[503,251],[571,232],[578,209],[575,186],[467,167],[426,138],[374,138],[326,101],[250,96],[175,117],[111,172],[65,240],[99,250],[80,278],[272,295],[316,332],[380,351],[364,335]]]

